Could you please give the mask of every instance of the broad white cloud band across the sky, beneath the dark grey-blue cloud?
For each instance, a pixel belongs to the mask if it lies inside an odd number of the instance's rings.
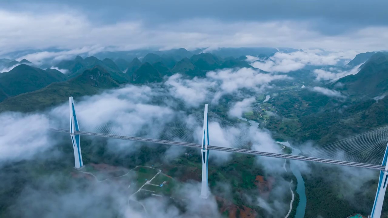
[[[315,21],[222,21],[196,17],[150,25],[144,17],[130,17],[111,23],[95,22],[74,9],[1,10],[2,54],[23,49],[60,48],[64,52],[37,52],[28,60],[68,58],[101,50],[131,50],[158,47],[320,47],[359,52],[386,49],[385,26],[359,28],[339,35],[322,35]],[[39,31],[36,31],[39,29]],[[380,33],[380,34],[376,34]],[[29,35],[29,37],[25,37]]]

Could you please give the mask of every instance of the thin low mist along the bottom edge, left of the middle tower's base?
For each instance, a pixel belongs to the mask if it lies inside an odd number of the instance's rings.
[[[132,176],[127,176],[126,180],[128,183],[136,182]],[[135,191],[132,187],[128,188],[111,180],[97,182],[75,179],[62,171],[57,171],[52,175],[41,175],[29,181],[17,198],[14,207],[9,208],[9,213],[22,218],[31,216],[42,218],[220,217],[217,202],[213,196],[207,201],[199,197],[200,184],[197,182],[175,186],[173,193],[180,201],[178,203],[171,203],[177,200],[171,200],[168,197],[142,199],[135,196],[133,200],[128,201],[129,195]],[[41,200],[36,201],[36,199]],[[184,211],[178,206],[183,206]]]

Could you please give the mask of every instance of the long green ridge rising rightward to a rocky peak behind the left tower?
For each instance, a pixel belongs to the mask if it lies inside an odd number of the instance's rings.
[[[43,110],[68,101],[69,96],[94,95],[101,89],[116,87],[119,87],[119,84],[111,78],[110,74],[102,67],[96,66],[68,81],[52,83],[35,92],[10,97],[0,103],[0,112]]]

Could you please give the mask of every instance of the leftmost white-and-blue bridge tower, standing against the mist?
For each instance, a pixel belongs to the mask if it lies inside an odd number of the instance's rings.
[[[82,154],[81,154],[80,135],[74,134],[75,131],[80,131],[80,127],[78,126],[78,120],[75,114],[73,97],[69,98],[69,104],[70,104],[70,137],[71,137],[71,142],[73,143],[73,149],[74,149],[75,168],[79,169],[83,166],[83,162],[82,162]]]

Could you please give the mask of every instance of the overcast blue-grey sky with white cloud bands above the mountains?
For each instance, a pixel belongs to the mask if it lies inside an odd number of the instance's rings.
[[[388,49],[386,0],[2,0],[0,54],[26,48]]]

